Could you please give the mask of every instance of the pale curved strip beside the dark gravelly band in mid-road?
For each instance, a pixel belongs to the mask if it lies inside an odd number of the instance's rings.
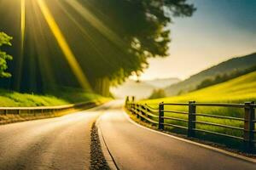
[[[96,127],[98,129],[99,139],[101,141],[103,156],[105,157],[105,160],[107,161],[108,167],[110,167],[110,169],[119,170],[119,167],[116,165],[116,162],[114,161],[113,156],[110,153],[110,150],[108,150],[108,145],[106,144],[106,141],[102,134],[100,121],[101,121],[101,116],[96,120]]]

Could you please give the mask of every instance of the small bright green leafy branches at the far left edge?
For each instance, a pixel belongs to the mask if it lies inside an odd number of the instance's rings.
[[[9,37],[4,32],[0,32],[0,47],[3,45],[11,46],[11,39],[12,37]],[[11,77],[11,74],[9,72],[6,72],[8,69],[7,60],[11,60],[13,57],[9,54],[6,54],[6,52],[3,52],[0,49],[0,77]]]

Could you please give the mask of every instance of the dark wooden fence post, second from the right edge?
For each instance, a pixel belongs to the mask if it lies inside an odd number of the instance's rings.
[[[196,106],[195,101],[189,101],[189,123],[188,123],[188,137],[195,137],[195,121],[196,121]]]

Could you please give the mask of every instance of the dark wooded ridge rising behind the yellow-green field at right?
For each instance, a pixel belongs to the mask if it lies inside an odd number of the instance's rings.
[[[256,65],[256,53],[229,59],[205,71],[201,71],[183,82],[172,84],[166,88],[166,94],[172,96],[185,93],[195,89],[197,85],[207,78],[216,77],[219,74],[230,73],[232,71],[244,70],[254,65]]]

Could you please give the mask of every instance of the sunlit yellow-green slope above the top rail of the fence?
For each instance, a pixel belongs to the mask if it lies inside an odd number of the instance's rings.
[[[195,100],[197,102],[242,103],[245,101],[256,100],[255,87],[256,71],[253,71],[247,75],[237,77],[228,82],[222,82],[208,88],[202,88],[189,94],[183,94],[163,99],[147,100],[146,102],[151,104],[158,104],[162,101],[188,102],[189,100]]]

